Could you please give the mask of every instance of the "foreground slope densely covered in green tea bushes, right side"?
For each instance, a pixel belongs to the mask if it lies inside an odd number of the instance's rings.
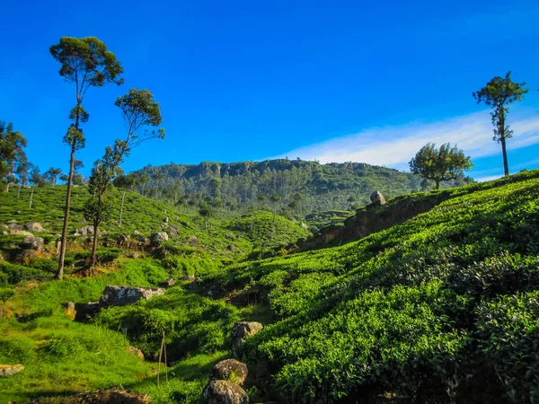
[[[208,279],[270,296],[280,321],[251,339],[250,371],[295,402],[538,400],[538,177],[451,189],[358,242]]]

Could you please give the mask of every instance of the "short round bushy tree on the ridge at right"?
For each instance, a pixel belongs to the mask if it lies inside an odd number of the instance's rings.
[[[440,182],[455,180],[464,171],[471,170],[473,163],[470,157],[455,146],[446,143],[439,149],[436,145],[428,143],[421,147],[420,151],[410,161],[410,170],[424,179],[433,180],[436,189]]]

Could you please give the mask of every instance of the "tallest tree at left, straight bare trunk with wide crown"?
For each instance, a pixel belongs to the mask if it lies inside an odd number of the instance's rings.
[[[66,82],[75,83],[75,107],[69,114],[71,126],[64,136],[64,142],[71,149],[69,158],[69,177],[67,180],[66,210],[60,247],[57,278],[64,277],[64,258],[66,256],[67,225],[71,204],[71,187],[75,171],[75,152],[84,147],[84,134],[81,124],[88,121],[89,115],[83,108],[84,95],[90,87],[102,87],[105,83],[123,83],[123,67],[116,56],[107,50],[105,44],[94,37],[82,39],[62,37],[50,47],[50,54],[61,65],[59,75]]]

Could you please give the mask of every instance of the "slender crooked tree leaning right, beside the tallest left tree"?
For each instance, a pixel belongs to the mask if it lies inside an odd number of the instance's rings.
[[[164,129],[158,127],[163,118],[159,103],[154,95],[147,90],[131,89],[119,97],[114,103],[121,110],[126,124],[125,139],[116,139],[113,146],[108,146],[101,160],[93,164],[88,190],[91,197],[84,205],[84,217],[93,223],[92,265],[97,262],[97,238],[99,225],[110,218],[110,201],[106,198],[110,181],[118,173],[119,164],[129,155],[131,150],[150,139],[163,139]]]

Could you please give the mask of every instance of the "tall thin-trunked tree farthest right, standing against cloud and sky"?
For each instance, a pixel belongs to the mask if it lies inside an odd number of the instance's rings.
[[[490,117],[492,117],[492,125],[494,125],[493,140],[501,143],[503,171],[506,176],[509,175],[506,139],[513,136],[513,131],[507,125],[508,106],[514,101],[524,100],[524,94],[528,92],[528,89],[524,88],[525,85],[525,82],[511,81],[511,72],[509,71],[505,78],[496,76],[481,90],[472,94],[478,104],[483,102],[492,109]]]

